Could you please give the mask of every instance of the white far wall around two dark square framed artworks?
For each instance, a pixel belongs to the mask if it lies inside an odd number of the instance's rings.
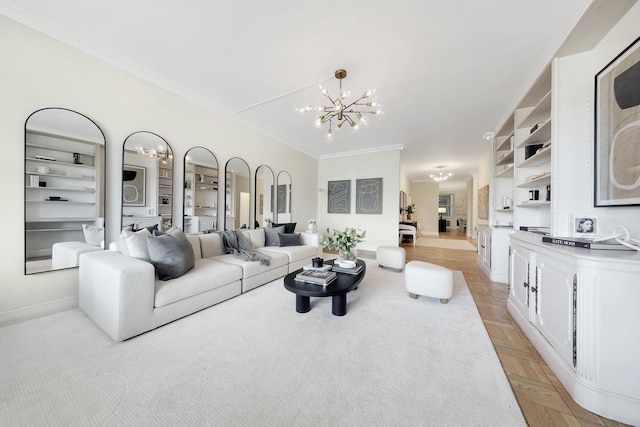
[[[356,179],[382,178],[382,215],[355,213]],[[328,181],[351,180],[351,213],[327,213]],[[318,230],[354,227],[366,230],[364,242],[358,249],[375,251],[378,246],[398,245],[398,212],[400,211],[400,150],[363,153],[344,157],[324,158],[318,172]],[[309,217],[311,219],[314,217]],[[306,223],[306,221],[305,221]]]

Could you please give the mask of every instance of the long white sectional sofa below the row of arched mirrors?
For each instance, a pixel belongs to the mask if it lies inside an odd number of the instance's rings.
[[[298,246],[265,246],[263,229],[242,230],[269,265],[224,253],[216,233],[187,235],[195,266],[162,281],[154,266],[116,250],[80,256],[79,306],[116,341],[155,329],[180,317],[240,295],[295,271],[318,255],[318,235],[300,233]]]

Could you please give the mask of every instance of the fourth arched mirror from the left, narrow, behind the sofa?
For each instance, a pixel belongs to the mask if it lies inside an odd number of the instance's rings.
[[[224,229],[249,228],[251,183],[249,165],[239,157],[227,161],[225,172]]]

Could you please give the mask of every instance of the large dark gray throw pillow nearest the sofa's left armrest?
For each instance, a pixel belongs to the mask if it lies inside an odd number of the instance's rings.
[[[149,257],[160,280],[182,276],[195,265],[191,243],[179,228],[147,238]]]

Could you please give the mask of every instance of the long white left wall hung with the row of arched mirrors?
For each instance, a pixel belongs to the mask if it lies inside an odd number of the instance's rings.
[[[105,133],[109,240],[117,236],[120,226],[122,143],[140,130],[159,134],[173,149],[176,225],[182,224],[182,161],[187,150],[197,145],[209,148],[220,165],[238,156],[247,161],[252,174],[261,164],[276,174],[288,171],[293,182],[292,215],[299,229],[316,216],[316,160],[3,16],[0,57],[0,221],[5,228],[0,248],[0,325],[77,305],[77,269],[24,275],[24,123],[40,108],[78,111]],[[393,168],[395,176],[389,181],[397,188],[397,165]],[[397,191],[393,193],[397,205]]]

